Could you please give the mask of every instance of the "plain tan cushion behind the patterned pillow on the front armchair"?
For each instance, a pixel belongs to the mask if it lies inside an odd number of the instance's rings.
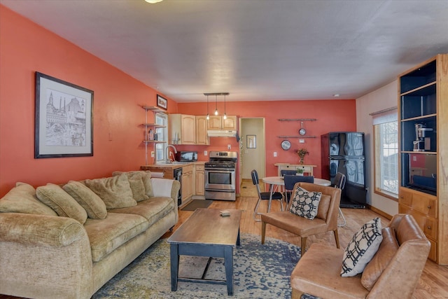
[[[398,241],[395,236],[395,230],[391,227],[383,228],[383,241],[379,245],[377,253],[374,255],[370,263],[368,263],[361,277],[361,284],[367,290],[371,290],[377,279],[381,276],[388,263],[391,262],[393,256],[398,251]]]

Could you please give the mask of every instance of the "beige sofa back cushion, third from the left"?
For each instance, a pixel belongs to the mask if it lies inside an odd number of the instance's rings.
[[[92,190],[78,181],[69,181],[62,187],[69,193],[78,204],[87,212],[87,216],[92,219],[104,219],[107,216],[106,204]]]

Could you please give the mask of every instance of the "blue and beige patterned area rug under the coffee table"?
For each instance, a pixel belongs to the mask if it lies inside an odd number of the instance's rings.
[[[300,247],[278,239],[241,234],[234,249],[234,295],[230,298],[291,298],[290,274]],[[207,259],[181,256],[180,277],[201,277]],[[92,298],[222,298],[227,286],[179,281],[171,291],[169,244],[160,239],[108,281]],[[223,259],[213,258],[206,279],[225,279]],[[304,296],[302,298],[312,298]]]

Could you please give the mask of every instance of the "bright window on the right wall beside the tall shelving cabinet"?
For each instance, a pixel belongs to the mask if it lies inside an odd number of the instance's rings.
[[[398,198],[398,121],[382,118],[374,121],[375,193]],[[375,124],[376,123],[376,124]]]

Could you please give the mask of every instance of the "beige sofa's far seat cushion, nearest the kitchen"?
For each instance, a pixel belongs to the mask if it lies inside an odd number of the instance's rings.
[[[137,214],[148,220],[149,225],[153,225],[167,215],[173,209],[176,209],[174,201],[170,197],[151,197],[150,200],[144,200],[137,203],[135,207],[122,209],[109,209],[110,213]]]

